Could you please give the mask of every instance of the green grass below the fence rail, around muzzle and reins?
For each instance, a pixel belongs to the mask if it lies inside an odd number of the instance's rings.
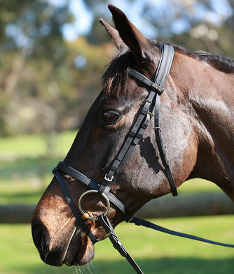
[[[168,218],[153,222],[212,240],[230,243],[234,239],[233,216]],[[117,226],[116,233],[146,274],[233,273],[234,249],[186,240],[127,223]],[[32,243],[29,225],[1,225],[0,242],[0,274],[135,273],[108,239],[96,244],[94,261],[82,268],[56,268],[44,264]]]

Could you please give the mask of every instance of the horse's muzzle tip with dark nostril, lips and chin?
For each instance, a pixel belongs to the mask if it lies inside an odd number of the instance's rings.
[[[44,263],[50,266],[82,266],[93,259],[94,244],[80,226],[67,231],[63,237],[58,232],[51,233],[53,231],[49,233],[39,218],[33,219],[32,237]]]

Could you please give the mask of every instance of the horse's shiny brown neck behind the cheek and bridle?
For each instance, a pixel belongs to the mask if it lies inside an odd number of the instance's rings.
[[[198,141],[197,160],[190,178],[212,181],[234,200],[234,75],[188,56],[177,56],[175,63],[179,73],[172,72],[174,84],[188,98]]]

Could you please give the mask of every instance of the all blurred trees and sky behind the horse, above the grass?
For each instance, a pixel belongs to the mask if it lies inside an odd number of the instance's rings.
[[[0,1],[0,136],[81,124],[101,90],[104,66],[116,54],[97,20],[112,24],[106,2]],[[234,58],[233,1],[111,2],[149,38]],[[76,28],[84,12],[91,27],[81,36]],[[72,27],[77,35],[66,40]]]

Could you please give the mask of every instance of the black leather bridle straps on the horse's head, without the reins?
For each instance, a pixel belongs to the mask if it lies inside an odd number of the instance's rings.
[[[163,93],[163,87],[165,85],[165,81],[167,80],[167,76],[170,72],[170,67],[172,65],[173,57],[174,57],[174,48],[172,46],[164,45],[161,56],[160,56],[160,61],[158,63],[158,68],[156,70],[156,76],[154,81],[151,81],[150,79],[146,78],[143,74],[137,72],[136,70],[132,70],[132,69],[130,70],[130,77],[139,81],[141,84],[144,84],[144,86],[150,87],[151,91],[149,92],[149,95],[144,100],[144,103],[142,104],[139,115],[135,123],[132,125],[132,129],[130,129],[130,132],[128,133],[128,137],[126,138],[125,143],[123,143],[123,146],[121,150],[118,152],[118,155],[116,156],[116,158],[114,159],[113,164],[111,165],[109,171],[104,176],[104,180],[102,181],[101,185],[97,184],[95,181],[92,181],[90,178],[88,178],[84,174],[81,174],[81,172],[77,171],[76,169],[69,167],[64,162],[60,162],[57,165],[57,167],[53,170],[53,173],[55,174],[57,181],[59,181],[66,197],[69,195],[69,191],[67,190],[67,187],[62,180],[60,171],[63,171],[65,174],[69,174],[70,176],[80,181],[81,183],[87,185],[91,189],[83,193],[83,195],[80,197],[79,204],[81,204],[81,200],[84,195],[90,192],[92,193],[95,192],[95,193],[98,193],[99,195],[102,195],[102,197],[104,197],[106,201],[108,202],[111,201],[116,207],[118,207],[118,209],[120,209],[123,212],[126,221],[130,220],[130,218],[132,217],[132,214],[130,214],[128,209],[125,208],[124,204],[109,191],[111,190],[112,185],[118,179],[118,176],[121,174],[121,171],[123,170],[123,167],[128,161],[130,155],[132,154],[133,149],[142,138],[142,135],[146,127],[148,126],[151,120],[151,117],[153,116],[152,111],[155,105],[156,107],[155,107],[155,128],[154,129],[156,132],[156,141],[158,143],[160,157],[165,167],[167,178],[169,179],[169,183],[172,188],[172,195],[177,195],[177,188],[174,183],[174,179],[170,171],[170,167],[165,157],[165,150],[163,148],[163,143],[162,143],[162,138],[160,135],[160,128],[159,128],[160,95]],[[72,211],[77,211],[77,209],[75,209],[76,207],[74,206],[74,202],[72,201],[70,197],[69,197],[69,204],[71,206]],[[80,214],[78,214],[78,211],[76,212],[75,216],[77,218],[78,223],[83,223],[82,228],[83,229],[85,228],[84,230],[88,231],[85,226],[85,223],[81,219]],[[88,235],[90,235],[90,232],[88,232]],[[94,239],[91,239],[91,240],[93,241]]]

